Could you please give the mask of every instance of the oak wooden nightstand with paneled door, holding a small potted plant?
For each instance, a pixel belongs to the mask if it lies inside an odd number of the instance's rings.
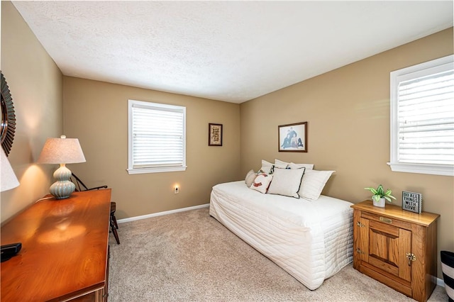
[[[389,203],[353,208],[353,267],[417,301],[436,286],[438,214],[413,213]]]

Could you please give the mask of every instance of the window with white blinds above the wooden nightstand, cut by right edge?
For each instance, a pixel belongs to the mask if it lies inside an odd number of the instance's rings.
[[[391,72],[392,171],[454,176],[453,57]]]

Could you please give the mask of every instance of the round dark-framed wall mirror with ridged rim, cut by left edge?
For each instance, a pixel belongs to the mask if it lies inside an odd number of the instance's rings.
[[[9,155],[13,145],[14,133],[16,132],[16,114],[14,113],[13,97],[9,92],[5,77],[1,73],[1,125],[0,138],[1,147]]]

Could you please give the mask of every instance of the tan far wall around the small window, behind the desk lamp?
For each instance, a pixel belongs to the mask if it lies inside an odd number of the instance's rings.
[[[209,203],[211,186],[240,177],[240,106],[221,101],[64,77],[65,134],[87,159],[68,165],[87,186],[109,185],[117,218]],[[132,174],[128,168],[128,99],[187,108],[187,170]],[[223,146],[208,146],[208,124],[223,124]],[[173,186],[179,184],[179,194]]]

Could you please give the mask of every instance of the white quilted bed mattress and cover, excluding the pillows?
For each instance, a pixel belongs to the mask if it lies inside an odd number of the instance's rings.
[[[352,204],[261,194],[234,181],[213,187],[209,213],[314,290],[353,261]]]

